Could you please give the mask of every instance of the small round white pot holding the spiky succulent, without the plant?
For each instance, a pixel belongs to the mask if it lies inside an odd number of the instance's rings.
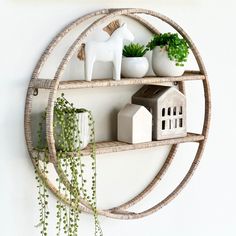
[[[123,57],[121,63],[121,74],[125,78],[142,78],[149,68],[146,57]]]

